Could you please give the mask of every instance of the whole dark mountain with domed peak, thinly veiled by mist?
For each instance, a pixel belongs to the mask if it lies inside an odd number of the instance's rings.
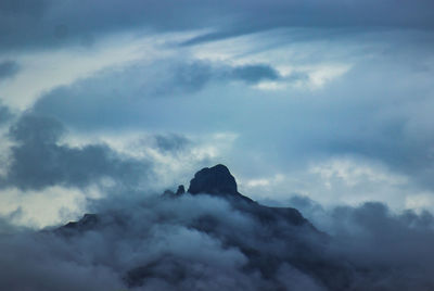
[[[210,205],[213,203],[216,207]],[[176,192],[168,190],[153,207],[164,211],[158,212],[156,217],[150,216],[149,222],[142,220],[143,227],[137,223],[140,213],[118,211],[86,214],[80,220],[58,228],[55,233],[66,239],[91,231],[116,233],[105,237],[113,240],[123,238],[124,241],[131,237],[131,240],[142,240],[146,244],[150,242],[145,233],[154,226],[176,225],[212,238],[222,250],[240,252],[245,262],[237,271],[267,282],[257,290],[289,290],[279,277],[282,268],[295,269],[296,274],[307,276],[312,280],[309,283],[318,290],[346,290],[348,287],[348,268],[341,261],[330,260],[324,252],[326,245],[330,243],[328,235],[318,231],[295,208],[265,206],[241,194],[234,177],[225,165],[199,170],[191,179],[187,192],[183,186],[179,186]],[[137,232],[136,228],[141,227],[142,230]],[[182,250],[177,249],[163,252],[153,260],[138,260],[136,266],[125,270],[123,280],[129,288],[146,286],[153,280],[179,286],[186,278],[193,276],[192,265],[206,269],[207,265],[216,264],[216,258],[206,255],[206,249],[200,248],[196,252],[204,255],[197,258],[196,254],[184,255]],[[217,269],[221,271],[219,267]],[[317,290],[315,288],[306,290]]]

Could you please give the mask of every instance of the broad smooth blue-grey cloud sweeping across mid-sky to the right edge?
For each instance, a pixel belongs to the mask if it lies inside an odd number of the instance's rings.
[[[47,92],[34,111],[78,130],[241,132],[229,159],[243,165],[261,156],[258,169],[268,164],[286,172],[312,160],[363,156],[432,189],[430,56],[399,46],[398,35],[384,35],[387,45],[380,36],[367,36],[361,47],[359,37],[349,36],[277,48],[264,35],[250,38],[247,48],[228,40],[222,49],[214,43],[204,50],[225,55],[233,46],[233,59],[176,54],[107,69]],[[268,50],[252,52],[258,43]],[[257,90],[280,84],[288,86]]]

